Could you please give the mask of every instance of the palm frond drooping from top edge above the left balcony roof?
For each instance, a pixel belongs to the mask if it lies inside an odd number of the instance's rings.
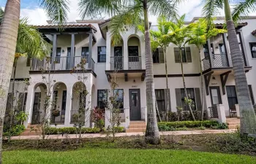
[[[40,0],[40,5],[55,23],[66,23],[69,12],[68,0]]]

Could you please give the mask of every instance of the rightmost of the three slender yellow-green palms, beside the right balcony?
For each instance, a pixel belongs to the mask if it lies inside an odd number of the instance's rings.
[[[209,21],[209,20],[208,20]],[[192,34],[189,36],[189,44],[195,44],[198,50],[198,57],[200,63],[200,81],[201,81],[201,98],[202,98],[202,109],[201,109],[201,120],[203,120],[203,109],[204,109],[204,93],[203,93],[203,69],[202,69],[202,60],[201,60],[201,50],[203,45],[207,43],[207,39],[210,39],[212,36],[217,36],[218,34],[225,33],[226,30],[218,29],[214,27],[213,22],[211,21],[211,26],[208,28],[208,21],[205,19],[199,19],[195,24],[195,27],[192,28]]]

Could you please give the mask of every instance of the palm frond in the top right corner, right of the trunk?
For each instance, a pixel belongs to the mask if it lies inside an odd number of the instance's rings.
[[[250,12],[256,11],[256,1],[255,0],[243,0],[239,4],[236,4],[233,9],[233,20],[241,20],[242,16],[248,16]]]

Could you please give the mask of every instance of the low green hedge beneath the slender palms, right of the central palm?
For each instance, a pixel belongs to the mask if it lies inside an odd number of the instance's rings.
[[[214,120],[205,120],[205,121],[181,121],[181,122],[158,122],[158,128],[161,131],[172,131],[178,129],[186,128],[214,128],[217,129],[226,129],[227,125],[225,123],[220,124]]]

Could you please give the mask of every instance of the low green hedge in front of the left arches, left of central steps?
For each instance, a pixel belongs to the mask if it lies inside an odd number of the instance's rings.
[[[124,127],[116,127],[117,133],[124,132]],[[48,128],[46,133],[50,134],[76,134],[75,127],[68,127],[68,128]],[[103,130],[104,132],[105,130]],[[99,128],[82,128],[81,132],[84,133],[101,133],[102,130]]]

